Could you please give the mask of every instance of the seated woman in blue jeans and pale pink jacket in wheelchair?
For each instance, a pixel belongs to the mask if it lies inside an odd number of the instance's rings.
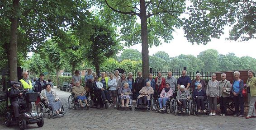
[[[170,84],[166,83],[166,87],[162,89],[160,93],[160,98],[158,98],[159,102],[159,111],[165,111],[166,110],[166,102],[170,100],[170,97],[172,96],[172,89],[170,88]]]

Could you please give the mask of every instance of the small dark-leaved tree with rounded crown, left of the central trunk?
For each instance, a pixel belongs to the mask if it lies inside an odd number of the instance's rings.
[[[100,65],[107,58],[115,56],[121,49],[114,27],[105,25],[98,20],[94,23],[94,32],[88,37],[89,44],[84,48],[86,60],[95,66],[96,73],[100,75]]]

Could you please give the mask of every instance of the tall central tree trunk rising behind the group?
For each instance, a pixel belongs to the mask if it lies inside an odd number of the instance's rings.
[[[144,79],[149,74],[148,37],[147,37],[147,9],[145,0],[140,0],[141,9],[141,38],[142,38],[142,76]]]

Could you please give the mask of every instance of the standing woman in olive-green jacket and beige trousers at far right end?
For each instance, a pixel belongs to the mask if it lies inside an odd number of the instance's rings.
[[[249,102],[249,112],[245,117],[246,119],[256,117],[255,115],[255,102],[256,102],[256,78],[253,77],[254,71],[248,71],[248,79],[247,79],[247,94],[248,94],[248,102]]]

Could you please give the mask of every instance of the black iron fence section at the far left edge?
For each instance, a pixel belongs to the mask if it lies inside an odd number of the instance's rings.
[[[0,69],[0,102],[6,100],[6,89],[9,86],[9,70]]]

